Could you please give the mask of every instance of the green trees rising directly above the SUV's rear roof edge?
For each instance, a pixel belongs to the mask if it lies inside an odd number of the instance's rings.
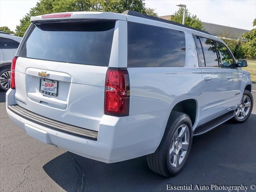
[[[56,13],[74,11],[106,11],[122,13],[125,10],[134,10],[144,14],[157,16],[154,9],[145,8],[144,0],[40,0],[36,6],[30,9],[16,26],[16,35],[24,36],[30,25],[30,17]]]

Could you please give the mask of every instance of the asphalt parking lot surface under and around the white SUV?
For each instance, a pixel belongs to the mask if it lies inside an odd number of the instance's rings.
[[[184,169],[164,178],[150,171],[145,157],[105,164],[27,136],[8,118],[5,92],[0,92],[0,190],[148,192],[166,191],[166,184],[251,186],[256,184],[256,92],[252,93],[254,108],[246,122],[225,123],[194,137]]]

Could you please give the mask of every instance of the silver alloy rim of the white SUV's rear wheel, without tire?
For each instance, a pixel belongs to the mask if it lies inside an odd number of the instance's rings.
[[[188,151],[190,132],[186,124],[182,124],[174,133],[170,145],[169,159],[172,167],[178,167]]]

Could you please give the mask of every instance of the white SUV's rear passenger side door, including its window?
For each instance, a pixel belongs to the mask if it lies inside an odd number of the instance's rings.
[[[213,40],[194,36],[198,54],[198,66],[202,71],[203,92],[200,124],[216,118],[223,110],[226,90],[226,75],[219,66]]]

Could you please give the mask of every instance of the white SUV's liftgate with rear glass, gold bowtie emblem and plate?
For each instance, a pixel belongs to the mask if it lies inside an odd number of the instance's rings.
[[[116,21],[34,24],[16,61],[16,102],[36,114],[98,130]]]

